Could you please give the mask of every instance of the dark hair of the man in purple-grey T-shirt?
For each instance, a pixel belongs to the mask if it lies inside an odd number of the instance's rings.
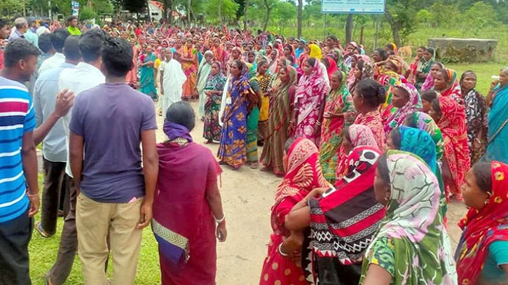
[[[101,57],[108,74],[125,76],[132,69],[132,46],[121,38],[107,37]]]

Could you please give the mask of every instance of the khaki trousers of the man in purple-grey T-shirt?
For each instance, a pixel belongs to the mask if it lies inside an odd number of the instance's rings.
[[[113,256],[113,284],[134,285],[142,230],[137,230],[143,199],[128,204],[95,202],[81,193],[76,206],[78,253],[85,285],[106,284],[107,235]]]

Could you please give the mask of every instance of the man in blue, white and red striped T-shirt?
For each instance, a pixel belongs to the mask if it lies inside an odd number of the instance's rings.
[[[28,243],[39,211],[35,112],[22,83],[41,52],[25,39],[10,41],[0,71],[0,284],[31,284]]]

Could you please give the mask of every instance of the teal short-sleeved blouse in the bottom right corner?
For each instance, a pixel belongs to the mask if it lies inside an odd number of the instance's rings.
[[[488,246],[488,256],[483,265],[481,279],[492,284],[507,284],[507,273],[501,265],[508,264],[508,241],[499,240]]]

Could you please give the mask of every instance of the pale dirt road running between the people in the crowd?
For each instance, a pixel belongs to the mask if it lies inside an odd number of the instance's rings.
[[[191,103],[196,111],[196,127],[192,131],[195,142],[202,144],[202,122],[197,115],[196,102]],[[158,117],[159,130],[157,141],[165,141],[162,131],[162,117]],[[215,154],[217,144],[208,148]],[[259,155],[262,149],[259,148]],[[217,284],[218,285],[254,285],[259,284],[261,265],[266,256],[270,237],[270,208],[273,204],[275,189],[282,179],[270,172],[242,167],[233,171],[223,167],[222,200],[226,214],[228,239],[217,248]],[[191,178],[189,178],[191,179]],[[460,238],[457,222],[466,212],[461,202],[448,205],[448,230],[453,248]]]

